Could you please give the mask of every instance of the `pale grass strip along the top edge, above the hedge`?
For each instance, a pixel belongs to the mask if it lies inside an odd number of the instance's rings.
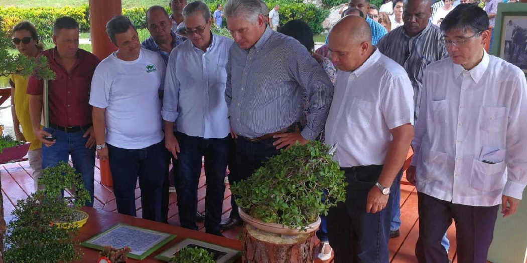
[[[106,1],[106,0],[98,0]],[[88,0],[0,0],[0,6],[17,6],[17,7],[38,7],[38,6],[53,6],[63,7],[80,6],[87,4]],[[131,7],[150,7],[152,5],[168,6],[169,0],[122,0],[123,8]]]

